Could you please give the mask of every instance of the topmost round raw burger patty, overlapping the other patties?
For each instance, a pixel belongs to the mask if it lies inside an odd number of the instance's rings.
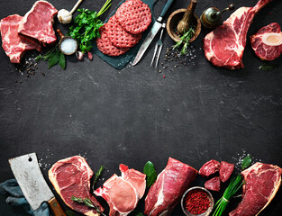
[[[150,8],[141,0],[128,0],[124,2],[115,13],[116,20],[123,29],[132,33],[140,34],[146,31],[151,23]]]

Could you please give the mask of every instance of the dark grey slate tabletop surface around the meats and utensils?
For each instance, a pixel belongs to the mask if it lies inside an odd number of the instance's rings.
[[[0,17],[23,15],[33,2],[4,1]],[[75,2],[50,0],[56,8],[68,10]],[[159,0],[155,16],[159,16],[165,2]],[[86,0],[80,7],[99,10],[103,3]],[[257,0],[199,0],[196,14],[200,15],[209,6],[224,8],[230,3],[238,8],[253,6]],[[113,0],[110,11],[116,4],[118,1]],[[176,0],[168,14],[187,4],[188,1]],[[255,17],[248,38],[269,23],[281,25],[281,11],[281,1],[268,4]],[[223,18],[227,16],[228,13]],[[55,25],[66,32],[59,23]],[[176,63],[170,62],[161,74],[150,67],[151,45],[136,67],[118,71],[96,56],[93,61],[84,62],[68,58],[65,71],[59,67],[48,70],[42,62],[36,75],[26,82],[1,49],[0,181],[13,177],[8,158],[30,152],[37,153],[45,177],[53,163],[78,154],[86,157],[95,171],[105,165],[108,170],[103,175],[105,179],[114,173],[120,174],[120,163],[142,170],[145,162],[151,160],[160,172],[168,157],[198,169],[212,158],[236,163],[250,153],[254,161],[282,166],[281,65],[273,71],[259,70],[262,62],[254,55],[248,40],[244,69],[215,68],[200,49],[207,32],[203,30],[193,43],[195,65],[175,68]],[[166,34],[164,49],[171,45],[173,41]],[[164,57],[165,51],[160,61]],[[281,57],[276,63],[280,61]],[[204,181],[199,177],[194,184],[203,185]],[[260,215],[279,215],[281,199],[279,190]],[[229,210],[235,206],[236,201],[232,201]],[[25,215],[5,204],[3,195],[0,212],[8,216]],[[182,215],[179,206],[173,215]]]

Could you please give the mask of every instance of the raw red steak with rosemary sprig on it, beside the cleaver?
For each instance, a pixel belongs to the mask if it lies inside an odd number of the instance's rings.
[[[90,193],[90,179],[93,171],[84,157],[73,156],[59,160],[50,168],[48,174],[50,182],[69,208],[88,216],[100,215],[93,208],[72,201],[71,197],[75,196],[82,199],[90,199],[100,211],[104,211],[101,204]]]

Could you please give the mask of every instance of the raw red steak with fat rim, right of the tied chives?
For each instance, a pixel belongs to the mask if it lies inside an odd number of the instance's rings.
[[[281,184],[279,166],[255,163],[241,172],[244,181],[242,201],[229,216],[254,216],[267,207]]]

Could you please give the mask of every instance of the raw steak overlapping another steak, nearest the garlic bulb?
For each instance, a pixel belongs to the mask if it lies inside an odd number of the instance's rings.
[[[53,30],[54,16],[57,9],[46,1],[37,1],[24,15],[19,26],[19,33],[41,42],[43,46],[57,40]]]

